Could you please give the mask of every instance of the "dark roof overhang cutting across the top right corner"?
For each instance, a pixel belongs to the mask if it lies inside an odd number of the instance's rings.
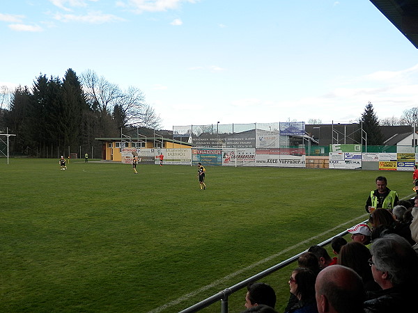
[[[418,48],[418,0],[370,0]]]

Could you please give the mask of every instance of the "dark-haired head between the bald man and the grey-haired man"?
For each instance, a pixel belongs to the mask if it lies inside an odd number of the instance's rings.
[[[373,280],[369,259],[371,252],[364,244],[351,241],[341,248],[338,264],[353,269],[363,280],[365,291],[380,290],[377,282]]]

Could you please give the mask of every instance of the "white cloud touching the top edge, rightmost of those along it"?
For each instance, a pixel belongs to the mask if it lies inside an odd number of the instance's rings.
[[[118,6],[132,8],[136,13],[163,12],[180,7],[183,2],[196,3],[200,0],[127,0],[118,1]]]

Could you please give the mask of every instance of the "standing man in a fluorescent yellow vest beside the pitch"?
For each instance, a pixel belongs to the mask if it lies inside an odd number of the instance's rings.
[[[399,197],[396,191],[387,188],[386,177],[379,176],[376,178],[376,190],[371,191],[366,201],[366,212],[371,213],[373,209],[393,209],[398,204]],[[373,208],[373,209],[372,209]]]

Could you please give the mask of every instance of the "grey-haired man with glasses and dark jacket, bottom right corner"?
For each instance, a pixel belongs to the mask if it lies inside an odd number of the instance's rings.
[[[418,255],[410,243],[397,234],[373,241],[370,259],[374,280],[382,288],[369,291],[364,312],[411,312],[418,293]]]

